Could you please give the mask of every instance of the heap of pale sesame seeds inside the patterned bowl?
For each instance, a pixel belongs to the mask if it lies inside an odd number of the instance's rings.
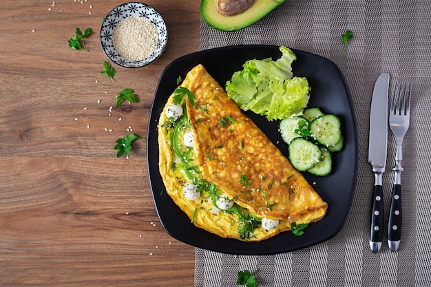
[[[118,23],[112,33],[112,42],[123,58],[138,61],[156,50],[156,26],[144,17],[127,17]]]

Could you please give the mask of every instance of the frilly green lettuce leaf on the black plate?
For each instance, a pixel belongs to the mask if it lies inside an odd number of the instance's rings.
[[[304,77],[294,77],[292,63],[296,56],[292,50],[281,46],[282,56],[249,60],[243,70],[235,72],[226,83],[227,96],[244,111],[251,110],[278,120],[300,115],[308,105],[310,87]]]

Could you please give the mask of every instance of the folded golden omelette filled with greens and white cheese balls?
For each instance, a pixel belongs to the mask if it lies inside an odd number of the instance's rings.
[[[326,213],[328,204],[203,65],[169,96],[158,145],[167,193],[211,233],[261,241]]]

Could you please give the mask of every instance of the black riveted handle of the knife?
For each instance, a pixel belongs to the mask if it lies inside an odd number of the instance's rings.
[[[383,188],[375,185],[372,192],[372,208],[370,216],[370,248],[372,253],[380,250],[383,239]]]

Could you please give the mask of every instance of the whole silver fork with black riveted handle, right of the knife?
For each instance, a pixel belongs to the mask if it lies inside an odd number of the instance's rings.
[[[397,83],[394,96],[390,104],[389,126],[397,140],[397,153],[395,155],[394,187],[392,188],[392,200],[390,202],[390,213],[388,222],[388,245],[390,251],[397,251],[401,242],[401,161],[403,160],[403,138],[410,125],[410,83]]]

